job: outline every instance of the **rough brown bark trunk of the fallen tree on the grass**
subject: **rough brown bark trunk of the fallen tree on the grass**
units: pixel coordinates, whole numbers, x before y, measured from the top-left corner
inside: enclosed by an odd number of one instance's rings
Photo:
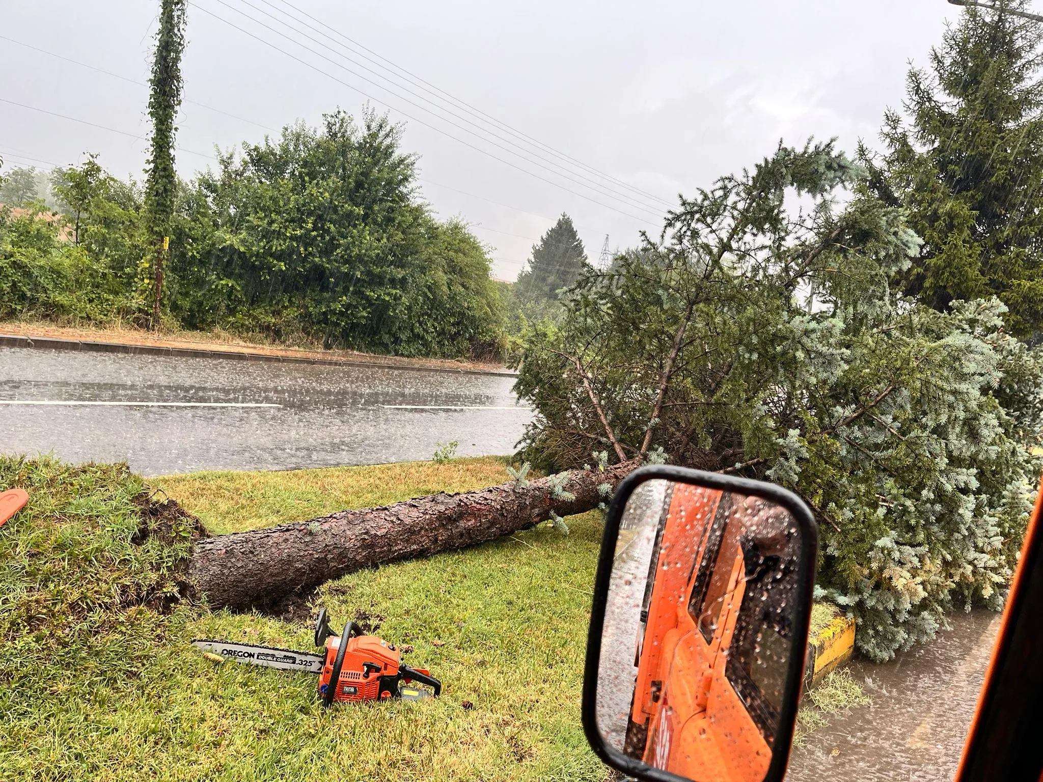
[[[405,503],[219,535],[196,543],[189,576],[212,608],[269,606],[345,573],[386,562],[461,548],[508,535],[551,517],[584,513],[607,502],[598,486],[612,489],[637,464],[572,470],[565,500],[547,478],[523,489],[513,483],[460,494],[433,494]]]

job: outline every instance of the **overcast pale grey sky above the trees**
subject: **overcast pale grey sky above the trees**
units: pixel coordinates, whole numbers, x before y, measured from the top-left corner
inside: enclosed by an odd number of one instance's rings
[[[92,151],[112,172],[140,177],[157,7],[157,0],[0,0],[7,167],[76,163]],[[213,165],[207,155],[215,144],[256,142],[271,132],[265,128],[298,118],[315,124],[337,106],[358,113],[369,100],[406,123],[425,197],[441,216],[466,219],[494,247],[494,275],[513,279],[561,212],[597,260],[606,234],[623,248],[641,228],[657,233],[663,200],[755,164],[779,139],[835,136],[848,150],[859,138],[875,144],[883,109],[901,102],[908,60],[925,65],[959,14],[945,0],[190,0],[185,97],[194,102],[184,105],[178,145],[203,154],[180,151],[177,165],[191,176]],[[344,59],[388,75],[341,48],[348,45],[341,33],[509,129],[492,138],[493,128],[459,104],[447,109],[459,118],[425,111],[435,109],[405,90],[434,96],[401,73],[404,85],[389,88]],[[589,169],[545,149],[523,151],[512,144],[525,140],[511,132]]]

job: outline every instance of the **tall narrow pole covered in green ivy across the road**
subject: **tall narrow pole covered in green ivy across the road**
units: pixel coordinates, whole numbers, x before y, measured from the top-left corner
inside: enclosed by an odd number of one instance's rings
[[[161,0],[160,30],[155,35],[155,54],[148,114],[152,138],[145,184],[146,225],[151,246],[151,284],[153,289],[150,325],[160,327],[163,297],[163,265],[168,252],[174,202],[177,196],[177,172],[174,169],[174,138],[177,109],[181,104],[181,53],[185,51],[185,0]],[[148,264],[143,265],[148,271]],[[148,280],[142,280],[147,287]]]

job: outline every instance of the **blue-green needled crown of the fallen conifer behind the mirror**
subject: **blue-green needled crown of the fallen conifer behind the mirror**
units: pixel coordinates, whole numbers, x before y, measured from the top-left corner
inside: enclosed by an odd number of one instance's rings
[[[954,606],[998,607],[1029,510],[1039,364],[995,299],[905,298],[919,252],[832,144],[780,147],[584,275],[560,323],[529,327],[524,458],[557,469],[607,449],[794,489],[820,523],[820,588],[877,660]]]

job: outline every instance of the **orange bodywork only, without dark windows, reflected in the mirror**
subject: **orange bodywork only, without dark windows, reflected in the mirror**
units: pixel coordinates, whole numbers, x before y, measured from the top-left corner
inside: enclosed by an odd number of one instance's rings
[[[742,524],[728,523],[715,562],[702,562],[714,516],[728,507],[721,507],[721,496],[701,487],[675,490],[660,561],[671,553],[666,569],[656,570],[631,718],[648,720],[644,759],[656,767],[695,780],[760,782],[771,748],[726,675],[745,593]],[[704,580],[712,572],[702,588],[709,610],[701,614],[714,619],[712,633],[688,610],[700,571]]]

